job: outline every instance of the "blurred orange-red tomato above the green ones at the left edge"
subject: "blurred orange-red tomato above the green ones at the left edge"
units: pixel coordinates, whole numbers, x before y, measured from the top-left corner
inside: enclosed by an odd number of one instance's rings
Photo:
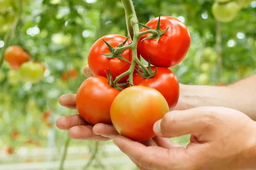
[[[12,69],[19,69],[20,65],[29,61],[30,56],[22,48],[17,45],[9,46],[5,53],[4,58],[10,64]]]

